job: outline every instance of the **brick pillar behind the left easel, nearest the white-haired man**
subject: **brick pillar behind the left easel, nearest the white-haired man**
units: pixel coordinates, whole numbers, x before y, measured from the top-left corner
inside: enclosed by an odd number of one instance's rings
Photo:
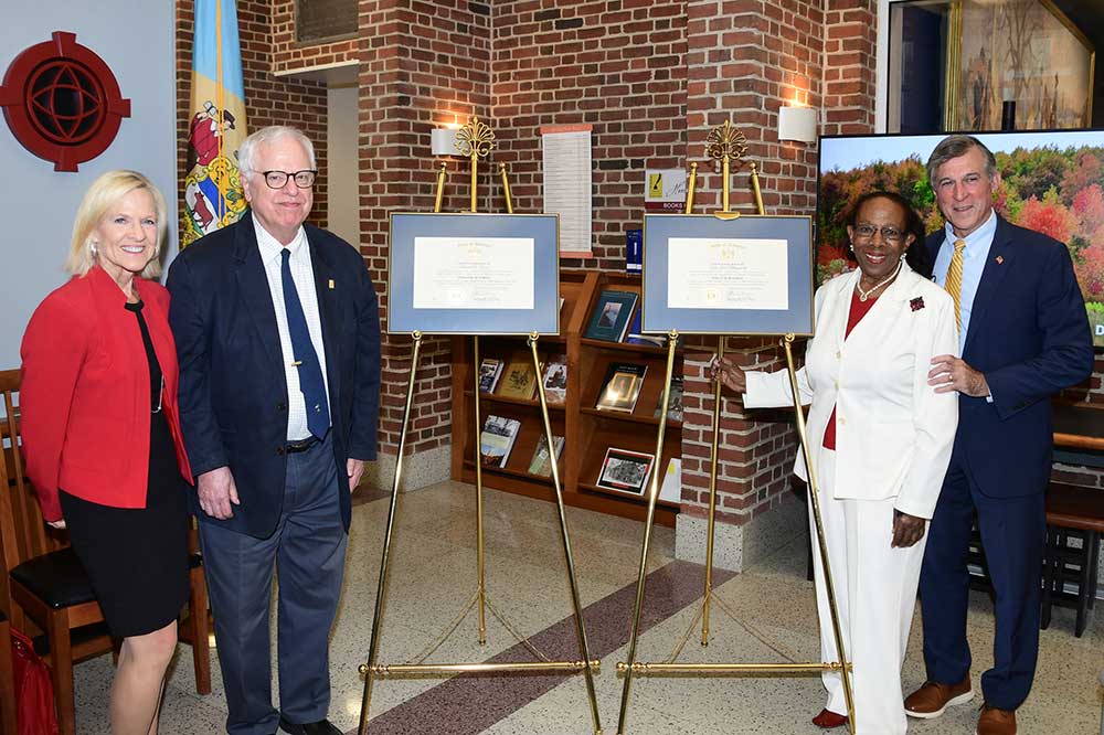
[[[436,177],[429,131],[443,122],[467,122],[471,115],[486,117],[490,104],[489,8],[445,0],[416,6],[360,1],[361,252],[380,295],[384,327],[389,214],[432,211]],[[466,210],[467,175],[457,159],[449,171],[444,210]],[[485,192],[493,180],[485,164]],[[383,487],[394,478],[412,351],[408,335],[384,335],[381,451],[378,477],[370,478]],[[450,434],[450,344],[426,338],[407,430],[405,488],[448,478]]]

